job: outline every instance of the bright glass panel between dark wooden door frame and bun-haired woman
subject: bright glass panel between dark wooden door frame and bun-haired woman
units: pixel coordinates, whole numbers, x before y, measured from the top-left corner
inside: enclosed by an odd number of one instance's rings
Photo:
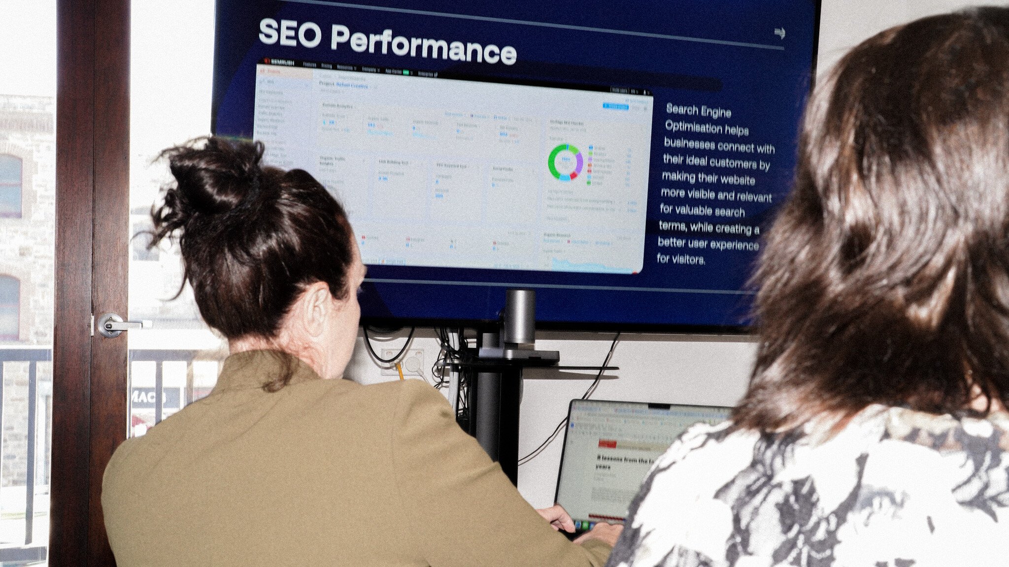
[[[227,344],[183,287],[179,247],[147,248],[151,206],[172,180],[158,154],[210,133],[214,0],[135,0],[131,20],[129,316],[153,323],[127,333],[134,437],[209,393]]]

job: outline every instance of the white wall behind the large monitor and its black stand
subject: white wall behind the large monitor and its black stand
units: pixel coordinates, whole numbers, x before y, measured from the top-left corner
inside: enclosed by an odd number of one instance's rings
[[[930,14],[947,12],[971,2],[954,0],[823,0],[817,71],[831,67],[849,48],[890,26]],[[429,372],[438,353],[434,335],[419,331],[412,348],[425,351]],[[538,346],[560,350],[561,362],[598,365],[609,348],[611,334],[540,333]],[[388,347],[399,348],[402,339]],[[733,406],[746,390],[756,344],[746,337],[624,335],[610,364],[620,366],[614,378],[600,383],[597,400],[627,400]],[[382,376],[358,342],[350,376],[364,383]],[[568,402],[580,398],[591,377],[560,379],[556,371],[527,372],[522,402],[520,455],[539,446],[567,414]],[[560,462],[561,438],[519,469],[519,490],[537,507],[553,503]]]

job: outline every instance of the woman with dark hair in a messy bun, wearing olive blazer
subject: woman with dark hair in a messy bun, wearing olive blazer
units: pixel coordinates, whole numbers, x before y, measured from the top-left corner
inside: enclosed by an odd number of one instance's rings
[[[113,454],[117,564],[602,565],[621,528],[557,534],[570,517],[526,503],[430,385],[342,379],[365,271],[353,231],[312,176],[262,153],[211,137],[162,154],[176,184],[151,245],[178,238],[231,355],[209,395]]]

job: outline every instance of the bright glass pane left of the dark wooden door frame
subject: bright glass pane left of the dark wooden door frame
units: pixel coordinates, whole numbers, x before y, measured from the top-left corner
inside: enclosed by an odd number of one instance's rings
[[[49,539],[55,0],[0,2],[0,565]]]

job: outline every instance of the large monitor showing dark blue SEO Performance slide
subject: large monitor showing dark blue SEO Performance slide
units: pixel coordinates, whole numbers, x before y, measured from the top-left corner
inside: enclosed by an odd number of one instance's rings
[[[817,0],[218,0],[214,124],[347,209],[362,315],[741,330]]]

